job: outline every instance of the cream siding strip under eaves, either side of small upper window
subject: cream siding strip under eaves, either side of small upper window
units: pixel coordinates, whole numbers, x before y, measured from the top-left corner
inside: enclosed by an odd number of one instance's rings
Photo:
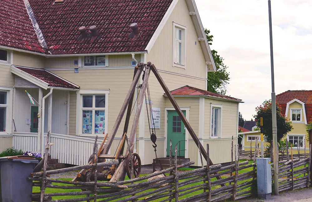
[[[131,66],[132,55],[130,54],[121,54],[121,55],[107,55],[108,57],[108,66],[109,67],[118,67],[118,66]],[[78,65],[74,65],[74,60],[78,60],[79,57],[48,57],[45,60],[45,68],[64,68],[72,67],[76,68]],[[141,60],[141,55],[136,54],[135,59],[138,63]],[[81,65],[84,64],[84,57],[81,57]]]

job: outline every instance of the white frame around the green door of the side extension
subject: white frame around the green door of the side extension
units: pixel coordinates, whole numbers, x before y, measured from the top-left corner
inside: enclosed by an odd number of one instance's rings
[[[186,120],[189,122],[190,117],[190,107],[180,107],[180,109],[183,111],[185,110],[185,117]],[[165,107],[165,146],[164,146],[164,156],[167,156],[167,125],[168,125],[168,111],[173,110],[176,111],[174,107]],[[188,130],[185,129],[185,158],[188,158]],[[175,145],[172,145],[173,147]]]

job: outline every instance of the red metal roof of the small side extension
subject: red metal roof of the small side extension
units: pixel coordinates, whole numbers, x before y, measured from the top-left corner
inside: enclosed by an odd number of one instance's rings
[[[173,95],[208,95],[208,96],[217,97],[217,98],[241,101],[241,99],[232,98],[230,96],[221,95],[221,94],[217,94],[217,93],[212,93],[212,92],[209,92],[207,90],[194,88],[194,87],[191,87],[191,86],[188,86],[188,85],[171,91],[171,94],[173,94]]]

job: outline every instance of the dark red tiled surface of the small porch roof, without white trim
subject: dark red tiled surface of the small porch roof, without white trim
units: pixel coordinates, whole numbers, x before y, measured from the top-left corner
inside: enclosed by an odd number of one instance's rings
[[[79,89],[79,87],[72,85],[65,79],[60,79],[59,77],[51,74],[48,71],[43,69],[35,69],[35,68],[24,68],[24,67],[16,67],[46,83],[51,87],[59,87],[59,88],[70,88],[70,89]]]

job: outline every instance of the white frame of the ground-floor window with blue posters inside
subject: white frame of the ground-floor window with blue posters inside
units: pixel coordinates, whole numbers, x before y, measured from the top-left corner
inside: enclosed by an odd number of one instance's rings
[[[76,134],[77,135],[81,135],[81,136],[105,136],[106,133],[108,133],[108,100],[109,100],[109,93],[110,90],[79,90],[77,91],[77,100],[76,100]],[[83,95],[93,95],[93,105],[92,108],[83,108],[82,107],[82,96]],[[95,95],[105,95],[105,108],[95,108]],[[83,118],[82,118],[82,111],[83,110],[105,110],[105,127],[104,127],[104,131],[105,134],[95,134],[94,130],[95,130],[95,122],[92,121],[92,134],[85,134],[82,133],[82,122],[83,122]],[[94,114],[92,113],[92,118],[94,119]]]

